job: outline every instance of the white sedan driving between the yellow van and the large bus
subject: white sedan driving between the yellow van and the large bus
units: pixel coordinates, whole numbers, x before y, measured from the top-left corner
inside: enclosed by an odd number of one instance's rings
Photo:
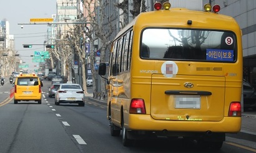
[[[79,84],[63,83],[55,93],[55,104],[78,103],[79,106],[84,106],[85,98],[84,90]]]

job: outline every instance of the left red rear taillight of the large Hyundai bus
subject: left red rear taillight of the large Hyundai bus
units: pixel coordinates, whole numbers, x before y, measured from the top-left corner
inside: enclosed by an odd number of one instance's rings
[[[145,114],[145,103],[142,99],[132,99],[130,103],[130,114]]]

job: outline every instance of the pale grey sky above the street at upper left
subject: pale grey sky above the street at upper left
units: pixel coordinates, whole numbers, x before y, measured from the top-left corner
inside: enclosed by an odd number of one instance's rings
[[[22,44],[44,44],[47,25],[24,25],[32,18],[51,18],[56,14],[56,0],[12,0],[0,2],[0,21],[8,21],[10,35],[14,35],[15,50],[22,62],[34,70],[38,63],[32,62],[31,55],[35,51],[44,51],[43,45],[33,45],[31,49],[23,48]]]

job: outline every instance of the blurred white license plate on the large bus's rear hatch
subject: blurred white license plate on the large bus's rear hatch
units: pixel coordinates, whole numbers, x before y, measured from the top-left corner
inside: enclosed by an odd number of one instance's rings
[[[201,98],[200,95],[175,95],[175,108],[192,108],[200,109]]]

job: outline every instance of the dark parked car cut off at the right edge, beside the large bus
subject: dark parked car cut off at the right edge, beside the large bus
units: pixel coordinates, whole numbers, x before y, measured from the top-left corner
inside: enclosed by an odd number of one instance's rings
[[[243,81],[244,108],[256,108],[256,93],[254,87],[246,80]]]

